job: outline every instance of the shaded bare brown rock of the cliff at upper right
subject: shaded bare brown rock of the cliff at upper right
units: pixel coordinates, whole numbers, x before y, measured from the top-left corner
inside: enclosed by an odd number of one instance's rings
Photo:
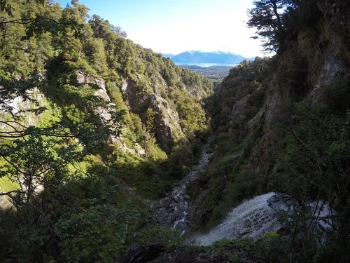
[[[318,1],[321,18],[316,25],[297,32],[297,39],[290,42],[290,48],[280,57],[277,73],[267,90],[264,107],[259,112],[264,114],[264,133],[255,151],[255,161],[250,168],[256,171],[269,170],[274,163],[272,148],[276,144],[276,134],[272,125],[280,118],[280,113],[288,109],[287,105],[297,94],[297,100],[309,103],[323,103],[325,86],[339,77],[349,76],[349,4],[342,1]],[[295,60],[300,63],[295,65]],[[294,64],[294,65],[293,65]],[[304,67],[304,74],[296,80],[300,90],[291,90],[286,79],[281,79],[279,72],[290,67]],[[298,87],[297,87],[298,88]],[[256,123],[255,116],[250,124]],[[255,120],[255,121],[254,121]]]

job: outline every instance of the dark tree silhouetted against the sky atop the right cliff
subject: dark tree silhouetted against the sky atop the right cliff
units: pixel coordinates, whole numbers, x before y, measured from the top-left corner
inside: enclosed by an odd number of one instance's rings
[[[258,29],[255,33],[258,36],[254,36],[254,39],[266,39],[263,44],[266,51],[278,51],[283,47],[286,37],[284,14],[297,8],[299,2],[298,0],[253,1],[255,8],[248,9],[250,19],[247,25]]]

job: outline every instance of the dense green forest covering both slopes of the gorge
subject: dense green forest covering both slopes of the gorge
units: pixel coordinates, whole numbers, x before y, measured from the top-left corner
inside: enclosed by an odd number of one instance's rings
[[[154,255],[127,262],[349,261],[349,4],[253,4],[248,26],[276,55],[214,89],[78,0],[0,1],[1,262],[119,262],[135,244]],[[148,222],[209,135],[192,231],[268,191],[299,205],[281,231],[204,248]],[[309,199],[336,211],[321,236]]]

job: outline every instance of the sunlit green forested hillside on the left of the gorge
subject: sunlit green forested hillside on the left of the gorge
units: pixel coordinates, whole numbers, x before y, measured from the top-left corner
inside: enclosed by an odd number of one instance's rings
[[[136,229],[197,161],[211,81],[76,0],[0,5],[0,261],[113,262],[163,238]]]

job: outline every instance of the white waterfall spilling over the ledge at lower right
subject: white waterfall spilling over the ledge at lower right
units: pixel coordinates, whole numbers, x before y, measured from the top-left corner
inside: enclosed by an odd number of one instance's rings
[[[309,222],[319,229],[326,229],[332,224],[332,215],[328,203],[323,201],[309,202],[306,205],[310,212]],[[267,193],[245,201],[234,208],[221,224],[207,234],[195,234],[187,241],[193,245],[211,245],[223,238],[259,238],[269,231],[283,227],[280,213],[291,215],[295,210],[293,200],[287,194]],[[316,215],[316,216],[315,216]]]

